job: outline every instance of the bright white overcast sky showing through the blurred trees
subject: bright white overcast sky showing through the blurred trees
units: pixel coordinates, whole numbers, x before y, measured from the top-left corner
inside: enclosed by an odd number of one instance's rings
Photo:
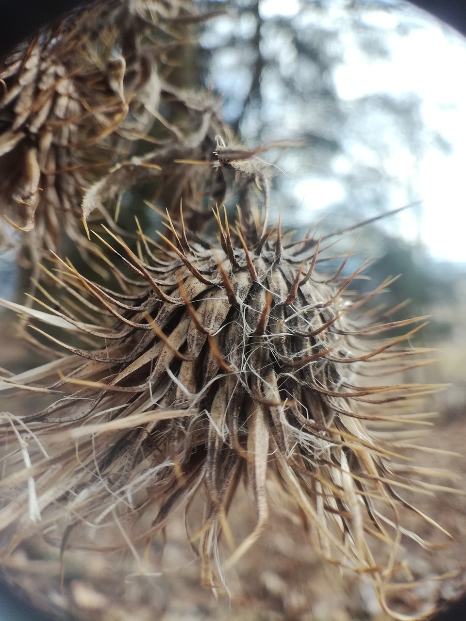
[[[264,0],[262,14],[289,16],[299,8],[298,0]],[[345,10],[345,2],[331,0],[333,19]],[[432,145],[418,165],[414,188],[423,199],[421,230],[413,214],[401,219],[401,233],[416,239],[421,235],[429,253],[440,259],[466,262],[466,39],[436,20],[426,29],[415,29],[407,36],[396,34],[397,17],[390,12],[373,11],[365,16],[389,32],[391,60],[373,60],[347,41],[345,61],[334,73],[339,97],[351,101],[375,93],[400,94],[415,91],[423,99],[426,130],[439,130],[452,145],[444,155]],[[361,154],[359,154],[361,155]],[[370,157],[370,153],[366,154]],[[337,163],[338,165],[338,163]],[[340,162],[345,166],[345,162]],[[403,153],[394,154],[386,163],[403,178],[406,162]],[[321,208],[342,196],[337,183],[309,179],[296,187],[303,197],[303,208]],[[307,197],[312,197],[308,200]],[[391,207],[400,207],[402,195],[393,189]]]

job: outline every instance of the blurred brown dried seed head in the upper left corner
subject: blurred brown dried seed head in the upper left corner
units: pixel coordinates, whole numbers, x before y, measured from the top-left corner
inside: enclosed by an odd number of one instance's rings
[[[170,52],[199,19],[190,1],[105,0],[0,63],[0,248],[24,243],[40,260],[60,235],[86,244],[83,191],[147,135]]]

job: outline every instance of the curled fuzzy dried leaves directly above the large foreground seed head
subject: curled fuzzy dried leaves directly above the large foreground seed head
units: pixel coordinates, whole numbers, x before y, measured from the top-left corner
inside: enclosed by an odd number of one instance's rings
[[[163,81],[162,101],[176,108],[176,124],[157,115],[162,125],[158,127],[160,138],[151,141],[158,143],[157,147],[122,161],[86,191],[82,204],[85,220],[141,183],[155,182],[154,200],[163,195],[169,212],[178,211],[183,201],[186,228],[196,232],[209,222],[206,212],[210,207],[224,200],[227,183],[216,154],[217,140],[222,135],[235,144],[235,138],[222,119],[221,100],[208,91],[179,89]],[[283,142],[272,146],[283,146]]]

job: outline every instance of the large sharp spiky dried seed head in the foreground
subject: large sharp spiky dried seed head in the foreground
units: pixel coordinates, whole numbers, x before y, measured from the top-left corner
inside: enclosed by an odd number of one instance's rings
[[[60,262],[68,300],[15,307],[70,338],[54,330],[48,338],[68,355],[1,383],[52,402],[2,417],[0,528],[8,550],[37,531],[64,549],[71,533],[116,523],[135,546],[203,499],[190,540],[215,586],[264,532],[278,497],[325,558],[372,579],[386,608],[401,539],[423,543],[403,528],[403,510],[419,513],[403,489],[429,490],[423,477],[434,474],[398,455],[403,433],[411,437],[400,428],[419,424],[409,407],[432,387],[386,379],[418,354],[401,344],[421,326],[369,324],[363,307],[388,283],[351,294],[360,270],[326,273],[316,238],[296,243],[279,224],[267,228],[245,196],[234,224],[216,212],[217,243],[191,235],[182,214],[160,242],[141,232],[137,254],[108,232],[117,290]],[[410,324],[404,337],[373,339]],[[228,514],[241,481],[257,522],[234,542]],[[150,525],[133,536],[142,515]]]

